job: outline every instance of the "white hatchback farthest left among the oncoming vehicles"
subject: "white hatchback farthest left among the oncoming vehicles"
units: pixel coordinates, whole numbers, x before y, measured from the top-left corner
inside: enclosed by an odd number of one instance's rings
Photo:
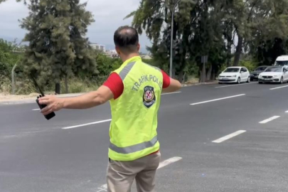
[[[225,82],[250,82],[250,72],[245,67],[230,67],[220,73],[218,78],[219,84]]]

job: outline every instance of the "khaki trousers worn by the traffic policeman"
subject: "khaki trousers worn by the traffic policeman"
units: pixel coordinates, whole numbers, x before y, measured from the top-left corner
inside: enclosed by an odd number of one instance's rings
[[[110,159],[107,168],[108,192],[130,192],[134,179],[138,192],[152,192],[160,158],[161,154],[157,152],[134,161]]]

